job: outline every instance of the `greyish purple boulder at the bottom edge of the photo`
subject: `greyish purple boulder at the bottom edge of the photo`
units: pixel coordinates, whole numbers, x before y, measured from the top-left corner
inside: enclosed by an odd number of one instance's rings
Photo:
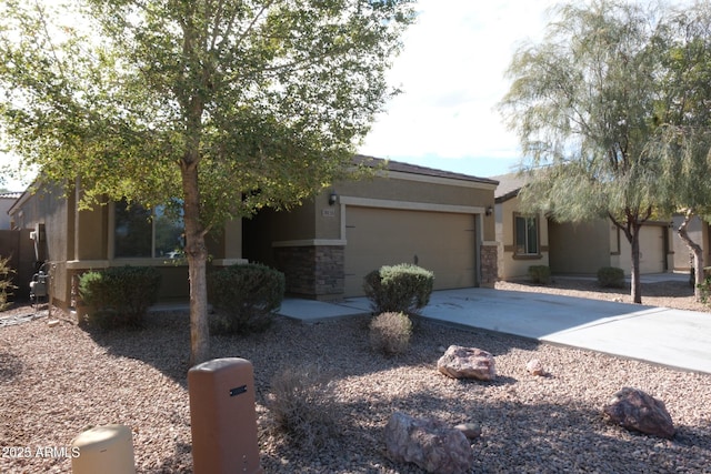
[[[461,474],[474,463],[467,436],[434,420],[395,412],[385,425],[384,438],[392,461],[414,463],[429,473]]]

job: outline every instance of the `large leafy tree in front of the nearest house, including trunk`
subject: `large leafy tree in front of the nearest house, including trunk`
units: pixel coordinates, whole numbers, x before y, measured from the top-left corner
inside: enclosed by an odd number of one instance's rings
[[[6,0],[0,14],[0,117],[22,162],[79,183],[86,205],[182,202],[192,363],[209,359],[206,234],[342,172],[413,19],[409,0]]]

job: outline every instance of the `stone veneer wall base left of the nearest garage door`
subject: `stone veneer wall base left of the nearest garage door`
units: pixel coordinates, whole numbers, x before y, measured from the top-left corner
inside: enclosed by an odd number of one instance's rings
[[[277,268],[287,279],[287,293],[329,299],[343,295],[343,245],[274,248]]]

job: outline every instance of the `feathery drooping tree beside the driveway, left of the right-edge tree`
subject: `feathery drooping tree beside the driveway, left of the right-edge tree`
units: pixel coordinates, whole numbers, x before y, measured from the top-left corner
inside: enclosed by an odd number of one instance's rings
[[[499,104],[532,172],[520,198],[558,221],[610,219],[630,242],[641,303],[640,229],[658,210],[658,163],[645,148],[659,127],[661,10],[595,0],[554,13],[544,39],[514,54]]]

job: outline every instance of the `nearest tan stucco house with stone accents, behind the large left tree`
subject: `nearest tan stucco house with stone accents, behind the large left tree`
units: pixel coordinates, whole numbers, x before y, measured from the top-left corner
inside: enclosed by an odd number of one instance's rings
[[[382,163],[382,160],[358,157]],[[362,279],[383,264],[417,263],[434,272],[435,289],[493,285],[497,181],[389,162],[361,181],[334,183],[289,212],[260,211],[209,235],[212,269],[261,262],[284,272],[287,291],[310,299],[362,294]],[[79,190],[81,192],[81,190]],[[50,262],[56,304],[76,304],[78,275],[92,269],[152,265],[161,300],[188,296],[180,225],[160,210],[147,220],[122,203],[79,210],[77,193],[24,193],[10,210],[18,228],[34,230]]]

